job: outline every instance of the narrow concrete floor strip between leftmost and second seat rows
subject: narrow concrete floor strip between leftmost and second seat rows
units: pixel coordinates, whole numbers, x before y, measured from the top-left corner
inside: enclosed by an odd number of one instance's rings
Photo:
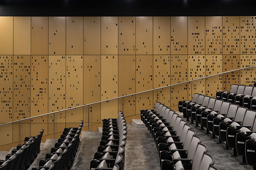
[[[44,147],[41,148],[40,153],[37,155],[36,159],[30,165],[28,170],[31,170],[32,168],[38,168],[39,160],[45,160],[45,154],[46,153],[51,153],[51,148],[53,148],[54,144],[57,143],[57,142],[58,142],[58,139],[46,139],[46,141],[44,143]]]

